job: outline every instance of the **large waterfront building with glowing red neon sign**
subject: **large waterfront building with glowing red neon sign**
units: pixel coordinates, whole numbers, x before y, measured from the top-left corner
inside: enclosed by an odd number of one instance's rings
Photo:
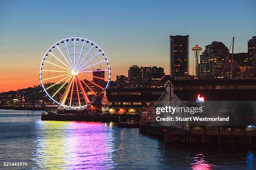
[[[220,128],[216,125],[211,126],[208,123],[206,127],[205,125],[197,125],[195,122],[189,121],[162,121],[158,122],[157,125],[184,130],[203,130],[206,128],[210,130],[213,128],[217,129],[216,135],[219,134],[218,130],[221,129],[244,130],[248,128],[248,125],[255,125],[256,80],[169,80],[165,88],[165,92],[158,100],[158,107],[202,107],[202,105],[205,105],[205,109],[207,109],[205,115],[229,115],[234,119],[232,122],[234,126],[232,127],[228,124],[226,125],[227,127]],[[218,109],[216,110],[216,108]],[[246,114],[245,117],[251,118],[240,121],[243,114]],[[167,117],[172,115],[165,112],[161,116]],[[176,116],[191,117],[198,115],[179,112],[175,113]]]

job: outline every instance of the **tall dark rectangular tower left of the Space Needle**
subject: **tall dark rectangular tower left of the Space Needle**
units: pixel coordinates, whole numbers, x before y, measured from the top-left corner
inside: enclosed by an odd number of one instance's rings
[[[189,74],[189,35],[170,36],[170,75]]]

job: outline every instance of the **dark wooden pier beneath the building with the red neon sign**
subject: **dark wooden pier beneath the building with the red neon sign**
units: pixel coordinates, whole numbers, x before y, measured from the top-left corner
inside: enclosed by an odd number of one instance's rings
[[[166,144],[178,145],[240,145],[253,146],[256,143],[256,131],[247,130],[181,130],[166,126],[142,124],[140,133],[164,140]]]

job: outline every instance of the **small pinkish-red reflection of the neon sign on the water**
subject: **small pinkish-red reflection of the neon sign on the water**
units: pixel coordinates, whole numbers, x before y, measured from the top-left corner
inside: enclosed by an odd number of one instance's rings
[[[211,170],[212,167],[215,167],[216,165],[211,165],[205,160],[205,155],[202,153],[200,154],[195,154],[194,157],[191,158],[191,164],[192,170]]]

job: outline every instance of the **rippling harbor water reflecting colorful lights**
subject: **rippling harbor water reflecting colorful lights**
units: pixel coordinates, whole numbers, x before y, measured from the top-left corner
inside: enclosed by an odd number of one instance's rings
[[[115,123],[41,121],[41,112],[28,112],[0,110],[0,169],[256,169],[253,150],[167,147]]]

